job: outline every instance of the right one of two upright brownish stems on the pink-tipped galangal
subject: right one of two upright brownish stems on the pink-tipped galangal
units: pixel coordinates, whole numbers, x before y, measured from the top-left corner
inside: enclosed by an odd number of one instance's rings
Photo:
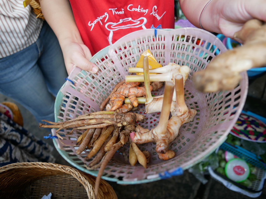
[[[176,114],[179,113],[180,115],[183,115],[188,111],[184,98],[183,76],[176,75],[174,79],[176,88]]]

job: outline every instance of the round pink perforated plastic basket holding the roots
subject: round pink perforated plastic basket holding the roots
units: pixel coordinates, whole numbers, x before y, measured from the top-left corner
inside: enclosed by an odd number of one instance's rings
[[[184,124],[178,137],[169,144],[169,148],[176,152],[173,159],[161,161],[155,151],[155,143],[140,145],[141,150],[148,150],[151,160],[148,168],[140,165],[131,166],[125,160],[129,146],[125,145],[114,155],[113,160],[105,169],[102,176],[105,180],[117,181],[120,184],[137,184],[159,180],[159,174],[172,172],[178,167],[183,170],[200,162],[212,153],[223,141],[235,124],[246,100],[247,74],[242,73],[242,81],[230,91],[217,93],[200,93],[192,83],[192,74],[204,70],[215,57],[214,52],[226,51],[226,47],[213,34],[197,28],[181,28],[171,30],[146,29],[133,32],[122,37],[113,45],[99,51],[91,59],[98,65],[99,72],[91,74],[75,68],[69,75],[70,81],[62,86],[56,97],[56,121],[65,121],[88,112],[99,111],[99,105],[108,96],[114,85],[128,75],[128,67],[135,67],[143,51],[149,49],[163,66],[169,62],[187,65],[191,68],[185,83],[185,102],[189,108],[197,110],[192,122]],[[153,92],[155,95],[163,93],[163,88]],[[144,114],[145,107],[139,105],[138,113]],[[160,113],[146,114],[147,121],[140,125],[153,128],[157,125]],[[76,140],[82,131],[74,131],[66,135],[71,129],[60,131],[64,140],[54,139],[59,153],[78,169],[97,175],[98,171],[90,171],[84,157],[85,151],[76,155]],[[55,135],[55,129],[52,129]]]

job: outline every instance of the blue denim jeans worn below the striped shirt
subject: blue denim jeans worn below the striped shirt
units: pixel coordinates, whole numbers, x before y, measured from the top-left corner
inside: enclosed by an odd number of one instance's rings
[[[0,92],[23,105],[38,122],[55,120],[55,96],[66,77],[59,42],[46,21],[34,44],[0,59]]]

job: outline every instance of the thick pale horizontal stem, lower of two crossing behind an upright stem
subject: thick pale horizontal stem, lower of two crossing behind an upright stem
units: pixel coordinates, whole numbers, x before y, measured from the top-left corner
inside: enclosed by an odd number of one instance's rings
[[[163,74],[152,74],[149,76],[150,81],[172,81],[171,72]],[[126,82],[144,82],[144,75],[126,75]]]

